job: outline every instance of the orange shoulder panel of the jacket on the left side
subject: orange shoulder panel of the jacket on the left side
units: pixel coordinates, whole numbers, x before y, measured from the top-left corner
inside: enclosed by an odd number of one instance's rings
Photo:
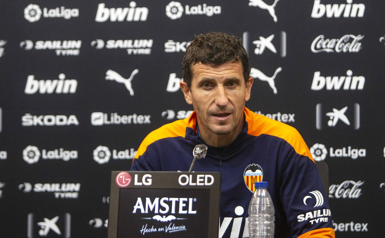
[[[144,154],[144,152],[146,152],[147,150],[147,147],[152,143],[156,142],[157,140],[160,140],[163,138],[169,138],[169,137],[185,137],[187,127],[191,127],[194,130],[196,130],[195,118],[196,118],[196,114],[195,114],[195,111],[193,111],[191,115],[185,119],[168,123],[150,132],[146,136],[146,138],[144,138],[141,145],[139,146],[139,149],[136,152],[134,160],[137,159],[142,154]]]

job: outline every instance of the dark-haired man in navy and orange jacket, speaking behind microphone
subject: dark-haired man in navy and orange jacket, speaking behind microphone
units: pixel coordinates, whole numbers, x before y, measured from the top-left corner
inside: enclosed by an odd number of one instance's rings
[[[219,237],[248,237],[253,182],[263,180],[275,206],[275,237],[334,238],[327,198],[300,134],[245,108],[253,77],[241,40],[200,34],[182,68],[180,86],[194,112],[147,135],[131,170],[187,171],[192,150],[204,143],[206,158],[194,170],[222,173]]]

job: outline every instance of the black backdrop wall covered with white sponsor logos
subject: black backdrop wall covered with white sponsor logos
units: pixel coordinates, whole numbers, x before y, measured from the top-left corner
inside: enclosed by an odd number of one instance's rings
[[[3,1],[0,236],[106,237],[110,171],[128,170],[147,133],[191,113],[178,84],[182,57],[209,31],[243,39],[255,78],[246,106],[296,127],[329,165],[336,235],[382,236],[384,8]]]

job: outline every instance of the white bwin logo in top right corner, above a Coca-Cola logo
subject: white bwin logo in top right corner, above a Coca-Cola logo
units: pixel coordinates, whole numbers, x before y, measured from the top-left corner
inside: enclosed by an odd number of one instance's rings
[[[313,10],[311,11],[312,18],[321,18],[325,15],[327,18],[341,17],[363,17],[365,5],[362,3],[353,3],[353,0],[346,0],[348,4],[321,4],[321,0],[314,0]]]

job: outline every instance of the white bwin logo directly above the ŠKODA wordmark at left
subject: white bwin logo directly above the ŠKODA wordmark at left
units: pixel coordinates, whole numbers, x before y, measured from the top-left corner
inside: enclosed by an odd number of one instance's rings
[[[65,74],[59,74],[59,79],[35,80],[34,75],[28,75],[24,93],[75,93],[77,89],[76,79],[65,79]]]

